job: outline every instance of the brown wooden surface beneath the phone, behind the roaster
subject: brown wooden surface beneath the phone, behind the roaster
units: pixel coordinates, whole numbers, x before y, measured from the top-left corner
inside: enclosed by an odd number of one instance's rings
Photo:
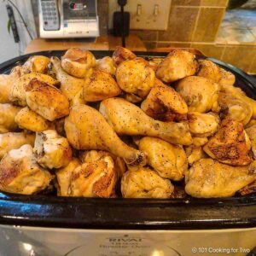
[[[27,45],[24,54],[29,54],[44,50],[54,49],[69,49],[72,47],[79,47],[85,49],[97,49],[97,50],[113,50],[117,45],[121,45],[121,38],[113,37],[111,35],[101,36],[96,40],[89,41],[86,38],[74,38],[74,39],[44,39],[36,38]],[[129,35],[126,38],[126,47],[134,51],[146,51],[146,47],[143,41],[136,35]]]

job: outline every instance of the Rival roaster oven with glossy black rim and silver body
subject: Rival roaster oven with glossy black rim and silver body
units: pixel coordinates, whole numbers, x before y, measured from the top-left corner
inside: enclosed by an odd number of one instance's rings
[[[63,55],[63,51],[38,55]],[[96,58],[111,51],[93,51]],[[136,53],[150,59],[165,53]],[[30,55],[0,65],[0,73]],[[256,81],[236,86],[256,99]],[[250,255],[256,247],[256,195],[153,200],[67,198],[0,193],[0,255],[172,256]]]

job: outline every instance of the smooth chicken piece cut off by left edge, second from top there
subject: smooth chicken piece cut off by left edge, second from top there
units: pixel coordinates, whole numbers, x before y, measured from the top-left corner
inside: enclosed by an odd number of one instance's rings
[[[17,130],[18,125],[15,123],[15,115],[20,109],[20,107],[15,107],[9,103],[0,103],[0,133]]]

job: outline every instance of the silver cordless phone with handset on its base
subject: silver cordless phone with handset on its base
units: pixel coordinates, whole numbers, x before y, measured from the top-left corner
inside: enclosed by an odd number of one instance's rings
[[[96,38],[96,0],[39,0],[40,38]]]

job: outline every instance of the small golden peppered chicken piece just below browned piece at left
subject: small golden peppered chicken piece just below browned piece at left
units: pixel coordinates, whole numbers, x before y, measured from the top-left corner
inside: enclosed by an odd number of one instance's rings
[[[54,125],[47,119],[44,119],[44,117],[27,107],[22,108],[19,113],[15,115],[15,123],[19,125],[20,128],[30,131],[45,131],[54,128]]]

